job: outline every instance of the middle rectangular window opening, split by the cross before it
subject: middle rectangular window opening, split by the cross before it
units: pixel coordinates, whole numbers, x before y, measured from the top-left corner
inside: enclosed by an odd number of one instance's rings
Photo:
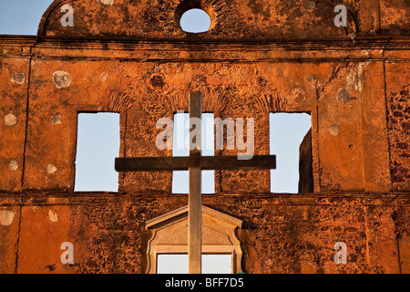
[[[174,115],[172,156],[190,156],[190,114],[177,112]],[[202,113],[202,156],[214,155],[214,118],[213,113]],[[201,172],[202,193],[215,193],[215,171]],[[172,193],[189,193],[189,172],[174,171]]]

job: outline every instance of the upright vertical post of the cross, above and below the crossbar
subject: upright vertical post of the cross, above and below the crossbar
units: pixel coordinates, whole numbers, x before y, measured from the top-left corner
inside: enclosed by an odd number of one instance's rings
[[[200,156],[201,129],[193,131],[195,120],[201,118],[202,98],[198,91],[190,92],[190,156]],[[196,127],[200,126],[198,124]],[[194,147],[195,146],[195,147]],[[201,273],[202,255],[202,195],[200,166],[189,167],[190,191],[188,211],[188,272]]]

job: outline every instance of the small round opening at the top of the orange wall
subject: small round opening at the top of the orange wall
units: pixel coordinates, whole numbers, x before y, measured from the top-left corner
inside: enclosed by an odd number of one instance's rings
[[[201,9],[193,8],[180,17],[179,24],[186,33],[204,33],[210,30],[210,16]]]

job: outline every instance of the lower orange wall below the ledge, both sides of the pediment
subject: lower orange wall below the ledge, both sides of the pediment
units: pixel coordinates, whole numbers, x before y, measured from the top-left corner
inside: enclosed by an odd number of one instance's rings
[[[187,203],[184,195],[108,193],[1,200],[8,204],[2,210],[15,213],[0,229],[3,273],[145,273],[151,236],[145,223]],[[203,203],[243,220],[238,237],[247,273],[410,272],[404,193],[204,195]],[[67,241],[74,265],[60,261]],[[347,245],[345,265],[333,261],[337,242]]]

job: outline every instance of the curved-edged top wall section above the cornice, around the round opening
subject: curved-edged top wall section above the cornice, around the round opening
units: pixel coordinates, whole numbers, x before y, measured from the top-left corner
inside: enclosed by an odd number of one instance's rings
[[[73,8],[73,26],[62,26],[65,5]],[[38,36],[241,40],[355,36],[355,18],[359,16],[355,11],[365,12],[366,7],[348,6],[347,26],[336,27],[334,6],[328,0],[55,0],[42,17]],[[180,17],[191,8],[207,12],[209,31],[190,34],[180,28]]]

